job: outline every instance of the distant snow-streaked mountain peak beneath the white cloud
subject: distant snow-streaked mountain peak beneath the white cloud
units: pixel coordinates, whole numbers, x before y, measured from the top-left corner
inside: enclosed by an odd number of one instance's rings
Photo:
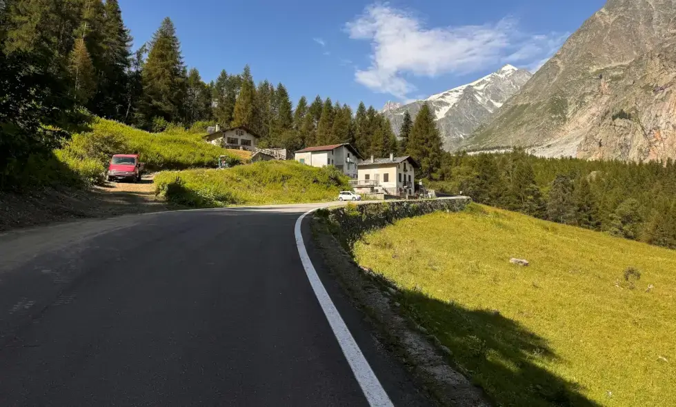
[[[390,119],[392,129],[398,135],[404,112],[408,110],[412,119],[415,119],[423,103],[428,103],[437,116],[444,148],[455,150],[465,137],[486,123],[532,76],[527,70],[506,65],[478,81],[432,95],[425,100],[397,108],[393,108],[397,103],[388,101],[382,112]]]

